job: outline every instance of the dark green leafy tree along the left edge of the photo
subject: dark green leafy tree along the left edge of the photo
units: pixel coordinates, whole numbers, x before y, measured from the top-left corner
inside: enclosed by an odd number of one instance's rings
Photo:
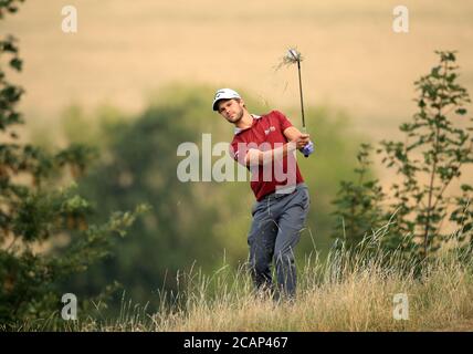
[[[0,1],[0,18],[15,12],[20,2]],[[0,40],[0,323],[18,325],[56,314],[62,296],[57,283],[104,258],[111,236],[124,236],[145,207],[113,214],[103,225],[90,223],[91,202],[75,183],[65,186],[62,180],[66,166],[73,177],[85,173],[94,150],[72,145],[50,154],[22,143],[14,127],[24,123],[17,111],[24,91],[7,80],[7,71],[20,72],[23,62],[11,35]]]

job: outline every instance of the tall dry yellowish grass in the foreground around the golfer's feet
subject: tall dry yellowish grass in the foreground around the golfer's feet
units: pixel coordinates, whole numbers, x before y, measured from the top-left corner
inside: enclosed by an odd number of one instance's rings
[[[177,294],[159,292],[160,308],[155,313],[124,299],[117,319],[90,316],[67,322],[65,330],[472,331],[471,249],[451,249],[419,263],[380,248],[387,230],[365,238],[357,250],[341,247],[325,260],[316,253],[307,258],[293,302],[255,293],[244,266],[236,270],[223,266],[211,277],[191,269],[178,277]],[[393,317],[397,293],[408,295],[408,320]]]

